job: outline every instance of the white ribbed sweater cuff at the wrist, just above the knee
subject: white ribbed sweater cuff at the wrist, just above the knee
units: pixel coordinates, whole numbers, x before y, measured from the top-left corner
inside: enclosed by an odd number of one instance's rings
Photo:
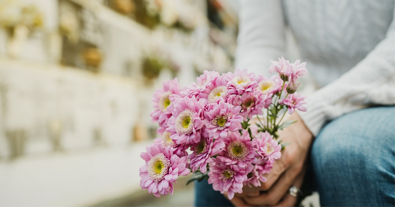
[[[328,117],[325,115],[325,104],[317,103],[313,100],[306,100],[307,111],[298,111],[299,116],[310,130],[310,132],[316,137],[321,131],[321,128],[327,121]]]

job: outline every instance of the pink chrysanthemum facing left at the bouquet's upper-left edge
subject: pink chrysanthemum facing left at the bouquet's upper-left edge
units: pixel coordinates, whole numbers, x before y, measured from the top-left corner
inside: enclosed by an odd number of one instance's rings
[[[171,116],[171,96],[178,95],[180,85],[177,78],[163,82],[163,89],[158,89],[154,93],[152,103],[155,110],[151,112],[152,122],[158,122],[158,133],[162,134],[166,129],[167,121]]]

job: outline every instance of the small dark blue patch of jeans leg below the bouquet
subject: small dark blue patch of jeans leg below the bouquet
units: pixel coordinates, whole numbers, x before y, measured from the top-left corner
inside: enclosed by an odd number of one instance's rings
[[[234,207],[228,199],[219,191],[213,190],[213,186],[207,180],[195,181],[195,207]]]

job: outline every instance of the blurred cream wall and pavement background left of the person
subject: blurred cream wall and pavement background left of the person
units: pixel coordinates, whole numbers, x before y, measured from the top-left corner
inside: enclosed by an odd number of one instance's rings
[[[162,82],[233,70],[237,0],[0,0],[0,207],[192,207],[141,190]],[[155,198],[155,199],[153,199]]]

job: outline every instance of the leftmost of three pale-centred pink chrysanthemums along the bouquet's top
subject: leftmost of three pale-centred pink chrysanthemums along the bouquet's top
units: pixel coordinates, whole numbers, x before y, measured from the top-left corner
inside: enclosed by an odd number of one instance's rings
[[[226,100],[228,98],[228,88],[226,87],[228,81],[221,75],[216,77],[211,83],[199,93],[197,100],[205,104],[218,103],[221,100]]]

